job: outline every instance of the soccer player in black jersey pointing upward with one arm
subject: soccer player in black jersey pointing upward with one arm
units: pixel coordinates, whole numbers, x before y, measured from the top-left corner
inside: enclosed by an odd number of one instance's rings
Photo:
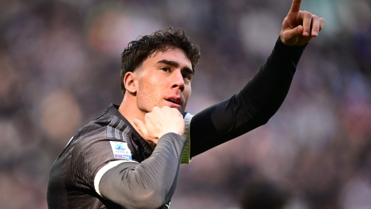
[[[300,5],[292,2],[273,53],[247,85],[195,116],[184,109],[199,48],[182,29],[131,41],[122,104],[67,143],[51,168],[48,208],[169,208],[181,161],[263,125],[282,104],[306,43],[325,23]]]

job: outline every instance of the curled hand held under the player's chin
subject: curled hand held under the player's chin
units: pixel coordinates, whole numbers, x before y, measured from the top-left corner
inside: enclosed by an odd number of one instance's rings
[[[144,116],[144,122],[134,119],[134,124],[142,133],[145,140],[157,144],[157,141],[166,133],[183,135],[184,119],[178,109],[170,107],[153,107],[152,112]]]

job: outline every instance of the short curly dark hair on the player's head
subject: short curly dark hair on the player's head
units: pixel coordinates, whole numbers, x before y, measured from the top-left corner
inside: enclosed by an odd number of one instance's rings
[[[125,95],[126,91],[124,86],[126,72],[134,72],[150,54],[165,51],[169,47],[183,50],[192,64],[193,72],[195,71],[200,59],[200,46],[194,45],[183,29],[168,27],[149,36],[138,36],[136,41],[131,41],[122,53],[120,82],[123,95]]]

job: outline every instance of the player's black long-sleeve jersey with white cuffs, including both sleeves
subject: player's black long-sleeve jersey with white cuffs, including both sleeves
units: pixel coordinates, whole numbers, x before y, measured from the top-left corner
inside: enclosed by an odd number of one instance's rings
[[[266,123],[285,99],[304,48],[278,39],[239,93],[185,114],[185,135],[167,133],[154,150],[111,104],[53,163],[48,208],[169,208],[181,161]]]

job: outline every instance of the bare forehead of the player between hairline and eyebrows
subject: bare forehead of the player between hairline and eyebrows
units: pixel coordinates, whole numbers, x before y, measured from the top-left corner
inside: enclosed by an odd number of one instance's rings
[[[192,63],[187,58],[186,53],[180,48],[168,48],[165,51],[157,51],[148,56],[143,65],[156,65],[160,60],[177,62],[179,67],[192,69]]]

